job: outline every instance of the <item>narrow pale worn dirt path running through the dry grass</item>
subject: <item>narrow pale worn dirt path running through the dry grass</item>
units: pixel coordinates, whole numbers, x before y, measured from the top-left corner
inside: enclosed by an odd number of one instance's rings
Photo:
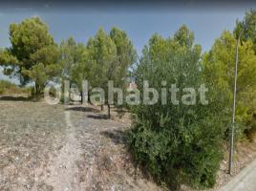
[[[65,144],[60,149],[58,156],[52,159],[52,163],[48,168],[50,175],[45,180],[56,191],[80,190],[77,177],[78,168],[75,162],[80,159],[81,149],[79,142],[75,138],[76,129],[70,122],[69,111],[65,111],[65,117],[67,121],[67,138],[65,138]]]

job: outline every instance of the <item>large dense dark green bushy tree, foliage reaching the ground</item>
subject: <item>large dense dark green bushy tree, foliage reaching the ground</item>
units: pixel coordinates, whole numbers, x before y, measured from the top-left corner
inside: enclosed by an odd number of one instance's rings
[[[186,26],[181,26],[174,37],[154,34],[135,71],[139,91],[143,92],[143,80],[159,94],[172,84],[180,90],[198,90],[205,83],[200,57],[201,46],[194,44],[193,32]],[[131,152],[146,172],[171,189],[178,189],[181,183],[194,187],[215,183],[222,159],[224,115],[214,90],[207,88],[208,105],[177,104],[167,92],[155,104],[143,102],[132,109],[136,120],[129,136]],[[195,94],[199,100],[199,93]],[[177,93],[177,100],[182,96]]]

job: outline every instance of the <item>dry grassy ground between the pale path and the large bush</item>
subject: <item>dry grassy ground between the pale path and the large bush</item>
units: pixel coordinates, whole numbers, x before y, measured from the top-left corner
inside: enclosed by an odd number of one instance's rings
[[[133,165],[125,145],[130,128],[129,114],[122,117],[112,108],[112,119],[100,107],[75,107],[71,118],[81,142],[82,157],[77,160],[81,190],[160,190],[152,180],[143,179]]]

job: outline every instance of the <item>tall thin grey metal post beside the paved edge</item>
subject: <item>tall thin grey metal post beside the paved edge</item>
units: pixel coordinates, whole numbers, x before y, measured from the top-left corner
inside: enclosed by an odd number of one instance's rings
[[[238,68],[238,46],[243,30],[239,33],[237,44],[236,44],[236,62],[235,62],[235,79],[234,79],[234,93],[233,93],[233,111],[232,111],[232,126],[230,135],[229,145],[229,163],[228,163],[228,174],[232,175],[232,161],[234,152],[234,133],[235,133],[235,115],[236,115],[236,93],[237,93],[237,68]]]

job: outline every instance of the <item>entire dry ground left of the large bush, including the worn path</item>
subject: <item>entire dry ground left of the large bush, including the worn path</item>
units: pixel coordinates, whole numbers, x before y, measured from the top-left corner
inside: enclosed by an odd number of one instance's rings
[[[96,107],[4,99],[0,190],[160,190],[142,178],[127,153],[129,117],[120,119],[113,110],[107,119]]]

